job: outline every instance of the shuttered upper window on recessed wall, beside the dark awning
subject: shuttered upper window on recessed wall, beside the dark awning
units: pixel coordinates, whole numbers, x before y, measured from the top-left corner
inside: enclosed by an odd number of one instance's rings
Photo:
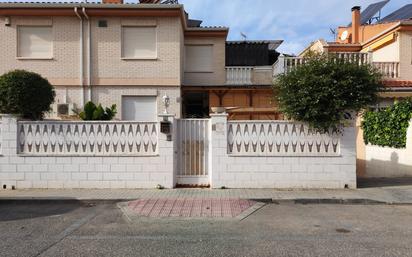
[[[213,72],[213,45],[186,45],[186,72]]]

